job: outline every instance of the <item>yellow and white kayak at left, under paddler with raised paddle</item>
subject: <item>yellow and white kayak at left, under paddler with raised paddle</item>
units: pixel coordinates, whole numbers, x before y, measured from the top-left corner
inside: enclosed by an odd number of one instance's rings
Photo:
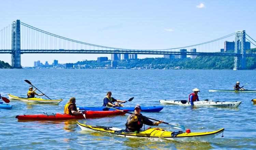
[[[17,97],[13,96],[11,94],[8,94],[10,100],[20,100],[24,102],[30,102],[30,103],[41,103],[41,104],[58,104],[61,102],[63,99],[58,99],[58,100],[45,100],[42,98],[22,98],[22,97]]]

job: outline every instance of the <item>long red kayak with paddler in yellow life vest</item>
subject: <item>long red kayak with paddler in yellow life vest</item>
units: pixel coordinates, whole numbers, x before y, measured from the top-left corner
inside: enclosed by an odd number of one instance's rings
[[[128,110],[126,110],[128,111]],[[40,114],[40,115],[17,115],[15,118],[18,120],[68,120],[68,119],[85,119],[86,118],[99,118],[113,115],[124,115],[125,112],[120,111],[84,111],[79,115],[67,115],[67,114]]]

